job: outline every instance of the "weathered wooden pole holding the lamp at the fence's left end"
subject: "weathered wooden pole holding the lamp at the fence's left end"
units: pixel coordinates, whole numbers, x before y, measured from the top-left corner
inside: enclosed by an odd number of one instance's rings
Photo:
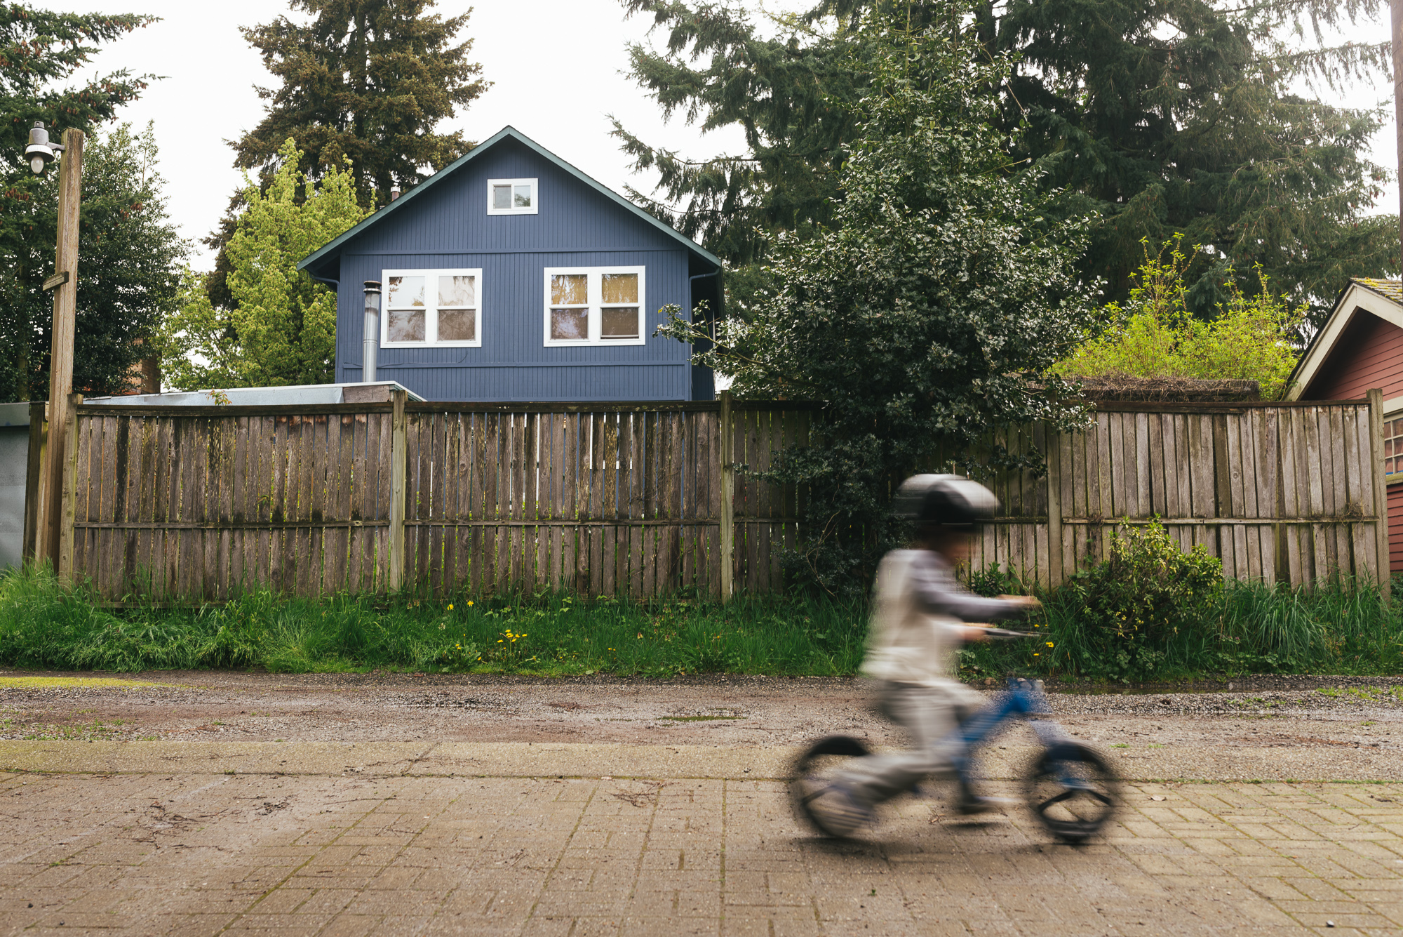
[[[77,331],[79,299],[79,206],[83,199],[83,130],[63,132],[63,159],[59,160],[59,244],[53,276],[43,281],[53,290],[53,328],[49,346],[49,433],[45,464],[41,466],[42,502],[39,505],[35,561],[48,560],[59,569],[59,530],[63,520],[63,466],[69,453],[67,425],[73,393],[73,337]]]

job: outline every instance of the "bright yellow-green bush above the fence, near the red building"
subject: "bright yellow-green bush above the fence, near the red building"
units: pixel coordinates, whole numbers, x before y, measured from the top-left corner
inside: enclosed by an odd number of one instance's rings
[[[1157,257],[1150,257],[1146,247],[1129,299],[1107,306],[1111,328],[1054,370],[1069,379],[1127,375],[1256,380],[1268,400],[1280,397],[1296,363],[1294,339],[1305,309],[1292,310],[1260,269],[1251,295],[1229,271],[1223,283],[1228,300],[1205,321],[1190,306],[1193,259],[1184,254],[1183,236],[1167,241]]]

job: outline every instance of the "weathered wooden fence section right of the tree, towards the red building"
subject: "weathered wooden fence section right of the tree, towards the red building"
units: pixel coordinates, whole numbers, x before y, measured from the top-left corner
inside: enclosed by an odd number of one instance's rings
[[[1086,432],[1009,433],[1048,453],[1048,474],[995,480],[1005,515],[974,564],[1048,585],[1103,557],[1107,534],[1157,518],[1202,544],[1223,577],[1388,586],[1382,398],[1289,404],[1104,404]]]

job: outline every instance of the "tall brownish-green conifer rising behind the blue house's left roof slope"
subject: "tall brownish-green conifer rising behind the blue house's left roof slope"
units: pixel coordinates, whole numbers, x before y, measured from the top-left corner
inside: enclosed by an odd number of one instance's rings
[[[236,166],[267,177],[292,137],[310,178],[351,161],[362,206],[384,205],[408,189],[424,167],[438,171],[471,149],[460,130],[439,122],[471,104],[488,84],[457,42],[469,13],[429,14],[434,0],[292,0],[311,15],[244,28],[281,87],[258,88],[268,114],[234,143]]]

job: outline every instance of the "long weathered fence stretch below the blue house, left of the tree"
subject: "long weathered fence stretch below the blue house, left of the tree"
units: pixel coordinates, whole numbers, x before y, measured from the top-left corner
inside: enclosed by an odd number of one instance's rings
[[[59,565],[108,600],[763,592],[794,543],[796,495],[730,466],[804,442],[811,410],[80,404]]]

